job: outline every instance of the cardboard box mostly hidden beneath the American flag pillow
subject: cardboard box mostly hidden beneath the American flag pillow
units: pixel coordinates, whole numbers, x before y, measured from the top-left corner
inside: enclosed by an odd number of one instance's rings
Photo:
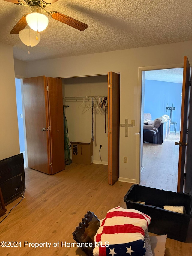
[[[164,256],[165,255],[165,243],[167,235],[162,236],[150,236],[151,247],[153,256]],[[67,256],[86,256],[81,248],[71,247],[67,253]]]

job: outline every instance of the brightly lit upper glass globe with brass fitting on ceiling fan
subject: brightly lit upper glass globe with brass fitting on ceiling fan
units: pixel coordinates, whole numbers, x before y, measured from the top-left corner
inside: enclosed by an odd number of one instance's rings
[[[26,16],[29,27],[35,31],[43,31],[48,25],[48,17],[41,13],[41,8],[33,6],[32,13]]]

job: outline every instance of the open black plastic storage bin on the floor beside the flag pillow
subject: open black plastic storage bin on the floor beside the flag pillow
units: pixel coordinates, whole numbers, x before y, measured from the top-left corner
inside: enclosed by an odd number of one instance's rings
[[[136,209],[152,218],[149,232],[185,242],[192,217],[192,196],[141,185],[132,185],[124,197],[127,209]],[[137,201],[144,204],[135,203]],[[186,214],[164,210],[164,205],[184,206]]]

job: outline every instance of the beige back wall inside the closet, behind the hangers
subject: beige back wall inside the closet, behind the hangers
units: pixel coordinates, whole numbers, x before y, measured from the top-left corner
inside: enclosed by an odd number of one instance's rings
[[[107,96],[108,83],[107,75],[74,77],[63,79],[63,96]],[[100,98],[101,101],[102,98]],[[99,101],[99,98],[97,99]],[[92,137],[92,102],[85,98],[83,100],[64,99],[65,116],[67,119],[69,141],[90,142]],[[85,106],[86,104],[86,106]],[[81,106],[80,106],[81,105]],[[80,107],[79,107],[80,106]],[[107,109],[106,109],[107,110]],[[97,107],[94,99],[93,108],[93,163],[108,164],[108,114],[106,111],[106,133],[105,133],[105,109]],[[101,147],[101,159],[99,149]]]

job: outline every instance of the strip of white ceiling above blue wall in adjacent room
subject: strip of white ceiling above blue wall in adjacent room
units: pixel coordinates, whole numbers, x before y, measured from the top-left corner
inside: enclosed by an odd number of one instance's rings
[[[172,83],[183,83],[183,68],[145,71],[145,79]]]

